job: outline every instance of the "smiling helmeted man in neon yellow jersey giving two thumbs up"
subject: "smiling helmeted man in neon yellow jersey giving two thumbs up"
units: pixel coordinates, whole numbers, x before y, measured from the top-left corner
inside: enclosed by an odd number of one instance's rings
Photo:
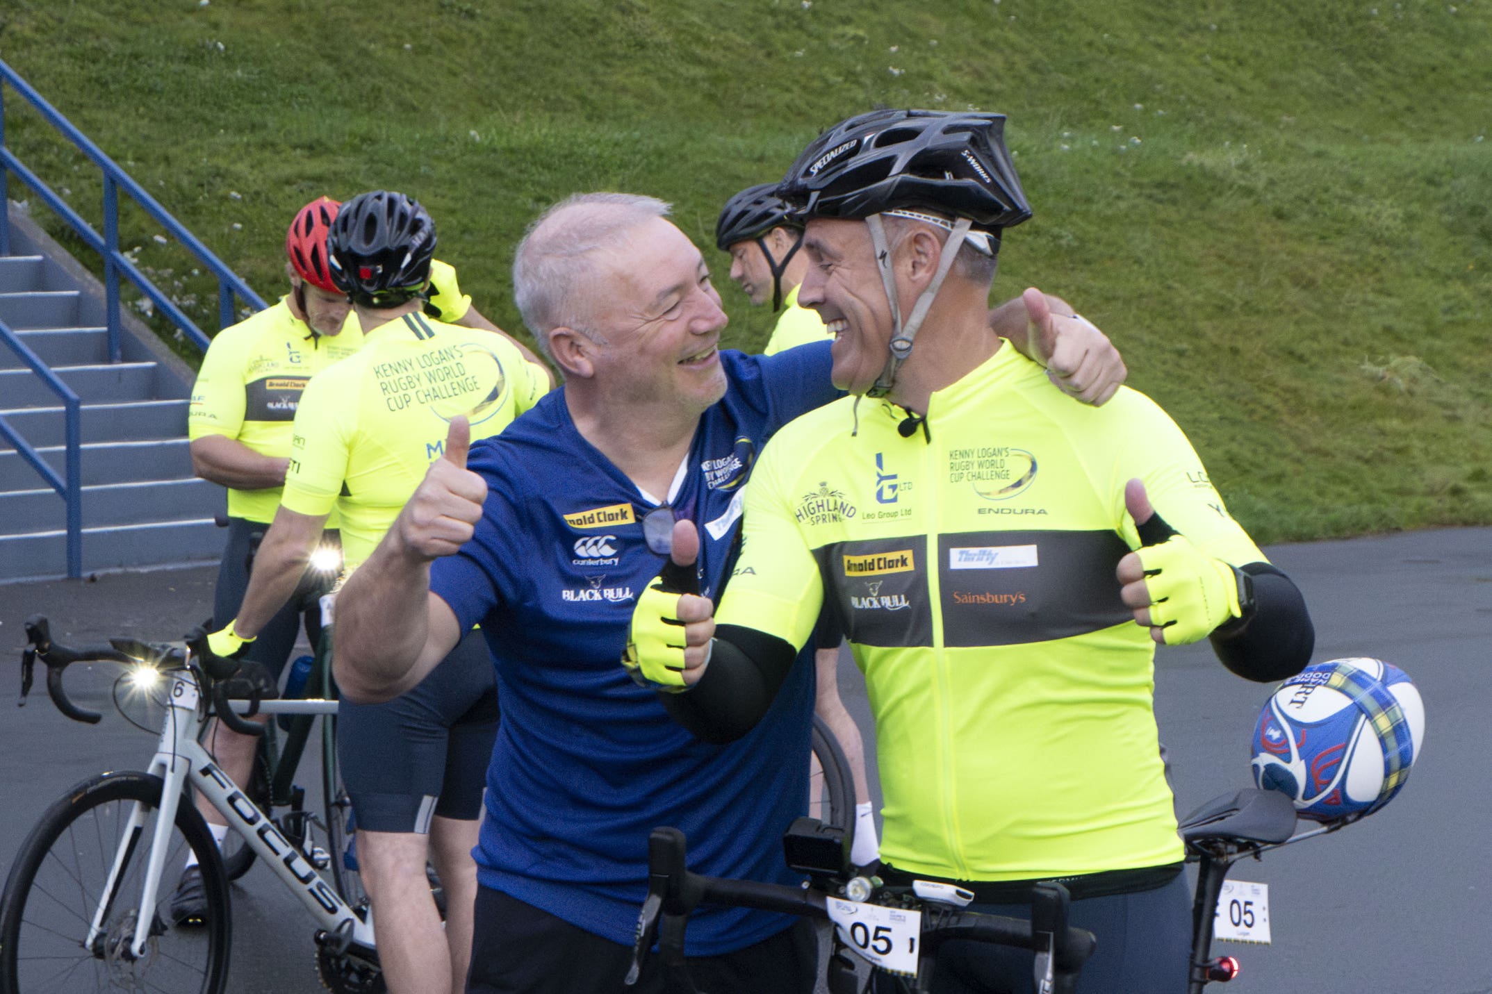
[[[1313,632],[1159,407],[1128,389],[1067,404],[989,334],[1001,232],[1029,216],[1003,124],[874,112],[789,170],[782,194],[807,221],[800,300],[834,332],[834,383],[855,396],[762,452],[718,617],[651,584],[630,665],[676,720],[731,741],[827,605],[876,717],[882,876],[956,882],[1000,914],[1029,914],[1031,885],[1058,879],[1071,922],[1098,937],[1080,991],[1180,994],[1191,915],[1155,645],[1210,638],[1267,681],[1304,666]],[[676,525],[674,560],[697,542]],[[934,990],[1031,990],[1031,966],[950,945]]]

